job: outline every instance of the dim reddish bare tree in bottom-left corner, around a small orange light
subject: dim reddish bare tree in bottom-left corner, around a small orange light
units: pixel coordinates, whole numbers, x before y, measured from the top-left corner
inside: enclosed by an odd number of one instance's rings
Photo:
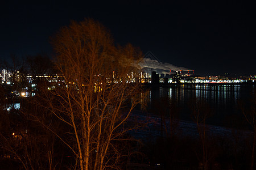
[[[23,103],[23,111],[14,108],[11,108],[10,111],[7,110],[9,103],[3,91],[4,89],[1,88],[1,158],[8,158],[12,163],[16,162],[24,169],[54,169],[57,165],[53,162],[55,135],[23,114],[24,112],[27,115],[31,114],[28,112],[35,113],[35,109],[32,109],[30,105]],[[29,111],[25,111],[24,108]],[[41,118],[41,120],[46,121],[46,118]],[[49,120],[47,118],[47,121]]]

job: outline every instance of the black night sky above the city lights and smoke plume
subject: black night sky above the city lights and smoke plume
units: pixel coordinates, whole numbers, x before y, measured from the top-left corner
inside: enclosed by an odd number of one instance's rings
[[[42,3],[39,3],[42,2]],[[0,57],[52,54],[49,37],[93,18],[115,42],[196,74],[256,75],[255,4],[232,1],[10,1],[0,4]]]

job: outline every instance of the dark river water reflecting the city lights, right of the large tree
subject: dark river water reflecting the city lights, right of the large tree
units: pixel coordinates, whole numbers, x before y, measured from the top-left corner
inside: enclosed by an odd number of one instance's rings
[[[144,100],[141,102],[147,105],[148,113],[158,107],[166,108],[173,102],[178,108],[179,119],[193,121],[191,103],[200,99],[210,109],[208,124],[243,129],[248,127],[241,112],[241,103],[249,108],[254,91],[255,84],[252,83],[174,84],[169,87],[151,87],[150,90],[143,91],[141,95]]]

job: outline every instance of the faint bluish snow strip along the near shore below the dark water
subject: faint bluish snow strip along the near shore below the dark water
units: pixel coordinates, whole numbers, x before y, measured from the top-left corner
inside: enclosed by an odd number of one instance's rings
[[[167,128],[169,128],[169,121],[165,121]],[[137,139],[153,139],[156,137],[160,137],[162,134],[163,136],[165,136],[166,134],[164,130],[163,133],[161,133],[161,118],[155,115],[152,116],[150,114],[134,111],[131,114],[128,122],[138,122],[139,124],[145,124],[143,128],[131,132],[131,134]],[[174,120],[172,124],[174,124],[174,134],[179,137],[199,137],[197,125],[195,124],[195,122]],[[236,137],[240,139],[245,139],[252,134],[252,132],[249,130],[237,130],[214,125],[205,125],[205,128],[206,135],[211,138]]]

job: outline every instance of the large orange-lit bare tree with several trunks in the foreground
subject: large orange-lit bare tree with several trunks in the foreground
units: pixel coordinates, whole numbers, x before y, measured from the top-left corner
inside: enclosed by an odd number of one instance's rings
[[[131,45],[115,48],[109,32],[92,19],[61,28],[52,44],[63,80],[41,95],[43,107],[70,131],[63,137],[49,129],[70,148],[80,169],[120,168],[117,143],[131,129],[125,122],[139,102],[139,85],[126,80],[137,70],[141,52]]]

